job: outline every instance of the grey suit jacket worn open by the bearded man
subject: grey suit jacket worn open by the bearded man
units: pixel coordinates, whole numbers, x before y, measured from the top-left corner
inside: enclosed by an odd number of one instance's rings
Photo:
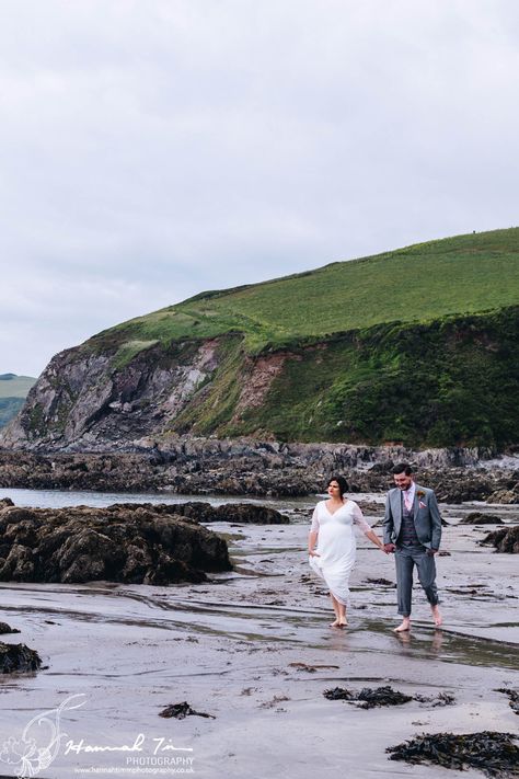
[[[416,484],[413,508],[415,529],[419,542],[428,549],[439,549],[441,542],[441,516],[434,491]],[[402,491],[396,486],[390,490],[385,496],[384,543],[396,543],[401,527]]]

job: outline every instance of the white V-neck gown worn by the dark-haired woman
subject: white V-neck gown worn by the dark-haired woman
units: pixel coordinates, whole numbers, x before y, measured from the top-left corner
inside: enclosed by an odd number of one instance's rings
[[[325,501],[318,503],[310,528],[318,531],[315,551],[319,554],[309,557],[310,565],[318,576],[324,578],[332,595],[345,606],[349,604],[349,574],[357,552],[354,525],[358,525],[364,532],[371,529],[358,504],[348,499],[333,514]]]

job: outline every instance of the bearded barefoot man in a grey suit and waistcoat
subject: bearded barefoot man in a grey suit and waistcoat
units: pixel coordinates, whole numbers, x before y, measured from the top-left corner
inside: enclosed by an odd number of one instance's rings
[[[396,564],[396,594],[402,625],[396,633],[411,629],[411,595],[413,569],[430,604],[435,626],[441,626],[436,588],[435,554],[441,540],[441,517],[432,490],[419,486],[413,480],[413,470],[406,462],[393,468],[396,486],[388,492],[384,516],[384,551],[394,552]]]

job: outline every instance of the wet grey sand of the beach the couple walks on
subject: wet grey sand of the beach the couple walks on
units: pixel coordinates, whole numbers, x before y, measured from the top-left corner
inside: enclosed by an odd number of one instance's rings
[[[492,526],[458,526],[469,509],[445,507],[452,525],[442,542],[450,555],[437,560],[440,631],[418,587],[411,634],[392,632],[395,589],[367,580],[394,582],[393,559],[364,537],[350,626],[330,628],[326,591],[303,551],[301,502],[289,526],[212,524],[228,537],[235,571],[209,584],[0,585],[0,619],[22,631],[3,640],[27,643],[48,666],[0,679],[0,751],[33,717],[82,695],[72,701],[81,708],[62,712],[67,735],[37,776],[482,776],[412,767],[385,754],[423,732],[519,730],[507,697],[495,691],[519,687],[518,558],[478,547]],[[517,511],[492,507],[507,522],[517,522]],[[430,697],[451,692],[457,702],[365,711],[322,695],[385,684]],[[184,700],[216,719],[159,717]],[[16,767],[0,763],[2,771],[15,776]]]

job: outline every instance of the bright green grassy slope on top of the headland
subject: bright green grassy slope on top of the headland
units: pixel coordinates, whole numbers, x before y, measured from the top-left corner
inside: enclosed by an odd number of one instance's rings
[[[241,332],[251,352],[391,321],[427,322],[519,303],[519,228],[457,236],[207,291],[99,333],[126,362],[147,346]]]

